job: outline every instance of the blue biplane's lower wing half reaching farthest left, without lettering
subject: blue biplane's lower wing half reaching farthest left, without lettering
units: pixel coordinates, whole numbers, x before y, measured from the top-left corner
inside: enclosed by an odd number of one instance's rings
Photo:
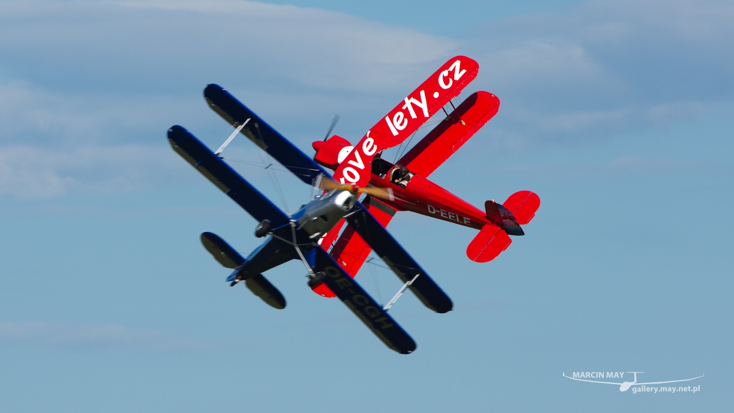
[[[214,155],[208,147],[181,126],[168,130],[168,142],[197,171],[211,180],[217,188],[228,194],[245,211],[258,221],[269,219],[274,227],[288,224],[288,216],[273,205],[255,187],[244,180],[234,169]]]

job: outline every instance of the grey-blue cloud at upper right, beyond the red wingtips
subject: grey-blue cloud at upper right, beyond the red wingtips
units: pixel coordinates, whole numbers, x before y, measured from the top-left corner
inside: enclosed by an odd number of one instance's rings
[[[604,139],[697,117],[734,99],[734,4],[590,1],[483,26],[476,83],[493,126],[534,145]],[[488,72],[488,73],[487,73]]]

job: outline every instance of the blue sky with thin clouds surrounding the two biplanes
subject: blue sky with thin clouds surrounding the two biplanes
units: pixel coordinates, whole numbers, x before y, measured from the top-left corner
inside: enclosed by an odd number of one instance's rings
[[[1,1],[3,410],[727,411],[733,19],[727,1]],[[335,113],[355,142],[457,54],[480,65],[459,99],[501,109],[432,180],[542,204],[483,264],[476,231],[393,219],[455,304],[390,310],[418,350],[385,348],[295,262],[266,274],[286,310],[229,288],[198,235],[247,253],[256,222],[165,139],[228,136],[203,87],[310,153]],[[226,155],[267,161],[244,139]],[[233,166],[290,212],[308,200]],[[374,266],[357,279],[382,301],[399,288]],[[673,395],[562,377],[598,370],[706,376]]]

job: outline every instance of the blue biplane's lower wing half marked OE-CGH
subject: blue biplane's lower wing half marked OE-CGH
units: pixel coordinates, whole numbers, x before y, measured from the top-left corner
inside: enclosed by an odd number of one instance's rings
[[[316,265],[313,271],[325,274],[324,284],[344,301],[362,322],[374,332],[385,345],[399,352],[410,354],[415,351],[415,342],[393,318],[382,310],[377,302],[346,274],[336,261],[323,249],[316,247]]]

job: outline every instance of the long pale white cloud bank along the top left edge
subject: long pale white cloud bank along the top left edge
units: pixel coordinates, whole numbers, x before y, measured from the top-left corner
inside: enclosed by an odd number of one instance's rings
[[[4,64],[61,87],[176,90],[190,81],[227,78],[385,91],[409,79],[410,69],[457,46],[455,40],[339,12],[254,1],[7,5],[0,14],[0,50],[15,62]]]

